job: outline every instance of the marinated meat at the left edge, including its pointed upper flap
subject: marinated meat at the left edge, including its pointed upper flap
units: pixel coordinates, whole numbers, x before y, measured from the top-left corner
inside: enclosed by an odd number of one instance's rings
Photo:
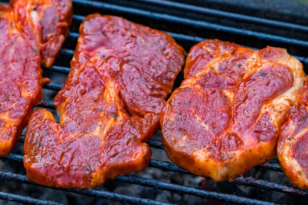
[[[68,32],[70,0],[0,5],[0,155],[16,145],[43,97],[41,63],[50,66]]]

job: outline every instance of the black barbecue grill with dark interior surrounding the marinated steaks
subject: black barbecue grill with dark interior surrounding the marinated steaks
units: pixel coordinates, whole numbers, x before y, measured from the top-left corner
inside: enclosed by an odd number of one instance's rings
[[[65,76],[70,71],[69,61],[74,54],[76,41],[79,37],[79,25],[86,15],[94,12],[122,16],[136,23],[154,29],[167,31],[180,45],[184,46],[186,51],[189,51],[192,45],[206,38],[228,40],[255,49],[271,45],[287,48],[290,54],[300,59],[304,64],[304,67],[307,67],[308,54],[306,51],[308,49],[308,26],[305,25],[308,24],[308,17],[305,19],[305,15],[302,17],[297,15],[298,13],[303,12],[303,10],[294,13],[284,13],[284,15],[281,16],[278,9],[277,13],[272,12],[270,13],[271,15],[268,15],[271,18],[269,19],[263,17],[266,16],[266,11],[270,10],[253,7],[253,2],[254,1],[251,2],[251,7],[249,7],[249,4],[244,7],[244,5],[232,4],[228,0],[196,0],[194,2],[188,0],[182,2],[180,0],[104,0],[104,2],[93,0],[73,0],[73,24],[68,38],[63,45],[61,54],[56,60],[55,65],[50,69],[43,67],[44,76],[50,77],[52,82],[44,86],[44,101],[39,105],[39,107],[55,110],[52,100],[57,91],[62,88],[62,84],[64,83],[63,80],[65,80]],[[232,6],[237,11],[241,11],[241,8],[243,7],[244,11],[242,13],[247,13],[250,10],[257,12],[258,9],[261,12],[259,13],[259,17],[257,17],[257,15],[247,16],[227,11],[231,9]],[[297,9],[304,8],[306,9],[305,6],[297,7]],[[177,77],[174,89],[180,86],[182,80],[183,72]],[[22,147],[24,140],[25,136],[22,135],[18,146]],[[160,140],[150,139],[147,144],[154,149],[164,152]],[[15,148],[8,156],[0,158],[5,161],[10,161],[10,163],[13,164],[19,163],[19,166],[22,167],[23,155],[17,148]],[[168,161],[152,159],[149,167],[150,168],[147,169],[160,169],[164,172],[168,172],[168,175],[175,175],[175,173],[184,174],[182,177],[192,175]],[[277,162],[264,163],[254,169],[265,169],[273,173],[282,172]],[[15,170],[14,173],[0,170],[0,180],[6,181],[7,183],[12,183],[11,181],[14,181],[30,184],[29,187],[31,187],[31,185],[40,186],[31,182],[24,173],[24,170]],[[267,199],[262,196],[248,198],[237,193],[237,186],[245,186],[247,188],[253,187],[257,190],[269,190],[273,194],[280,192],[283,197],[295,195],[300,199],[308,200],[308,191],[298,189],[291,185],[284,185],[255,178],[253,176],[238,176],[234,178],[232,182],[229,182],[234,189],[232,193],[230,193],[230,191],[209,191],[200,187],[189,187],[182,184],[164,182],[154,178],[137,176],[136,174],[118,176],[114,180],[126,184],[136,184],[142,187],[151,187],[179,194],[212,199],[215,200],[216,203],[217,201],[221,201],[225,204],[239,203],[249,205],[270,205],[284,203],[283,201],[280,202],[278,199],[275,201],[266,201]],[[169,203],[159,202],[149,198],[128,196],[100,188],[64,189],[52,187],[51,189],[60,190],[62,192],[72,192],[89,197],[114,200],[123,204],[170,205]],[[46,201],[43,199],[36,199],[29,196],[21,196],[20,194],[6,192],[0,192],[0,199],[31,205],[62,205],[61,203],[54,201]]]

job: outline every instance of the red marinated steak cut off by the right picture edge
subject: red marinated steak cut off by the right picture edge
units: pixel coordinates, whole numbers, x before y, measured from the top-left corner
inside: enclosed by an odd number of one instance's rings
[[[277,154],[292,184],[308,189],[308,79],[281,127]]]

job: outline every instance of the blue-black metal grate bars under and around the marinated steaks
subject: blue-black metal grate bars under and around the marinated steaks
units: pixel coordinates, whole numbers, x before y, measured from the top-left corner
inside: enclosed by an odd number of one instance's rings
[[[66,75],[70,71],[69,61],[74,54],[74,51],[72,49],[74,49],[76,45],[76,40],[79,37],[79,34],[76,31],[78,30],[81,21],[85,18],[84,15],[93,12],[100,12],[101,14],[119,15],[134,22],[150,26],[152,28],[166,30],[166,32],[172,35],[180,45],[183,45],[185,47],[187,51],[195,43],[202,41],[206,38],[212,38],[212,36],[216,35],[222,40],[234,41],[236,43],[245,44],[252,48],[263,47],[263,45],[267,44],[285,47],[288,48],[289,52],[294,55],[299,55],[301,51],[307,50],[308,48],[308,39],[296,39],[294,37],[297,34],[298,35],[303,35],[303,33],[307,34],[308,27],[303,25],[296,25],[292,23],[280,22],[276,20],[269,20],[258,17],[250,17],[242,14],[234,14],[230,12],[219,11],[215,9],[209,9],[194,5],[187,5],[184,3],[179,3],[176,1],[168,1],[168,0],[105,0],[104,2],[90,1],[90,0],[73,0],[73,2],[75,8],[74,12],[76,14],[73,16],[74,21],[71,28],[71,32],[69,33],[68,39],[64,44],[63,49],[61,50],[60,57],[57,59],[55,63],[56,65],[52,66],[50,69],[46,69],[43,67],[44,75],[46,73],[54,73],[54,72]],[[166,8],[168,9],[167,13],[165,12]],[[187,14],[185,16],[178,16],[177,12],[179,10],[182,10],[182,12],[184,11]],[[215,24],[205,21],[206,18],[204,18],[205,17],[204,15],[212,16],[212,18],[238,21],[240,23],[248,22],[251,24],[258,24],[259,26],[261,25],[262,27],[275,27],[278,29],[286,29],[289,30],[289,33],[291,33],[294,36],[285,37],[276,34],[271,34],[270,29],[268,30],[268,33],[265,33],[254,30],[254,28],[248,30],[224,24]],[[203,33],[200,33],[197,30],[201,30],[203,31]],[[306,56],[295,56],[295,57],[300,59],[305,66],[308,65],[308,58]],[[180,73],[179,77],[177,78],[174,89],[180,85],[182,80],[183,80],[183,72]],[[62,84],[53,82],[46,84],[44,86],[45,91],[46,90],[59,91],[61,88]],[[39,107],[55,110],[52,98],[49,99],[46,96],[44,97],[44,101],[42,102],[42,104],[39,105]],[[25,136],[22,135],[20,143],[23,143],[24,140]],[[147,142],[147,144],[156,149],[163,149],[162,143],[159,140],[150,139]],[[9,160],[14,163],[23,163],[23,155],[21,154],[11,153],[8,156],[0,157],[0,159]],[[165,172],[171,172],[170,175],[173,174],[172,172],[191,175],[190,173],[186,172],[177,165],[167,161],[152,159],[149,167],[160,169]],[[257,168],[275,172],[282,172],[279,164],[273,162],[261,164],[257,166]],[[41,186],[30,181],[25,175],[14,174],[5,171],[0,171],[0,180],[15,181],[15,182]],[[135,175],[118,176],[115,180],[127,184],[137,184],[144,187],[152,187],[155,189],[167,190],[176,193],[183,193],[196,197],[202,197],[205,199],[216,199],[224,202],[250,204],[250,205],[275,204],[273,202],[265,202],[257,199],[250,199],[238,196],[236,194],[226,194],[214,191],[206,191],[199,188],[188,187],[174,183],[167,183],[160,180],[140,177]],[[274,182],[269,182],[251,176],[236,177],[232,181],[232,183],[234,183],[235,185],[245,185],[249,187],[266,189],[270,191],[276,191],[296,196],[308,196],[308,191],[298,189],[294,186],[287,186]],[[105,191],[101,189],[64,189],[57,187],[51,187],[51,189],[61,190],[64,192],[72,192],[80,195],[103,198],[108,200],[114,200],[127,204],[170,205],[168,203],[157,202],[154,200],[138,198],[133,196],[127,196],[124,194]],[[24,203],[24,204],[33,204],[33,205],[47,205],[47,204],[62,205],[56,202],[39,200],[31,197],[24,197],[4,192],[0,192],[0,199],[12,202]]]

